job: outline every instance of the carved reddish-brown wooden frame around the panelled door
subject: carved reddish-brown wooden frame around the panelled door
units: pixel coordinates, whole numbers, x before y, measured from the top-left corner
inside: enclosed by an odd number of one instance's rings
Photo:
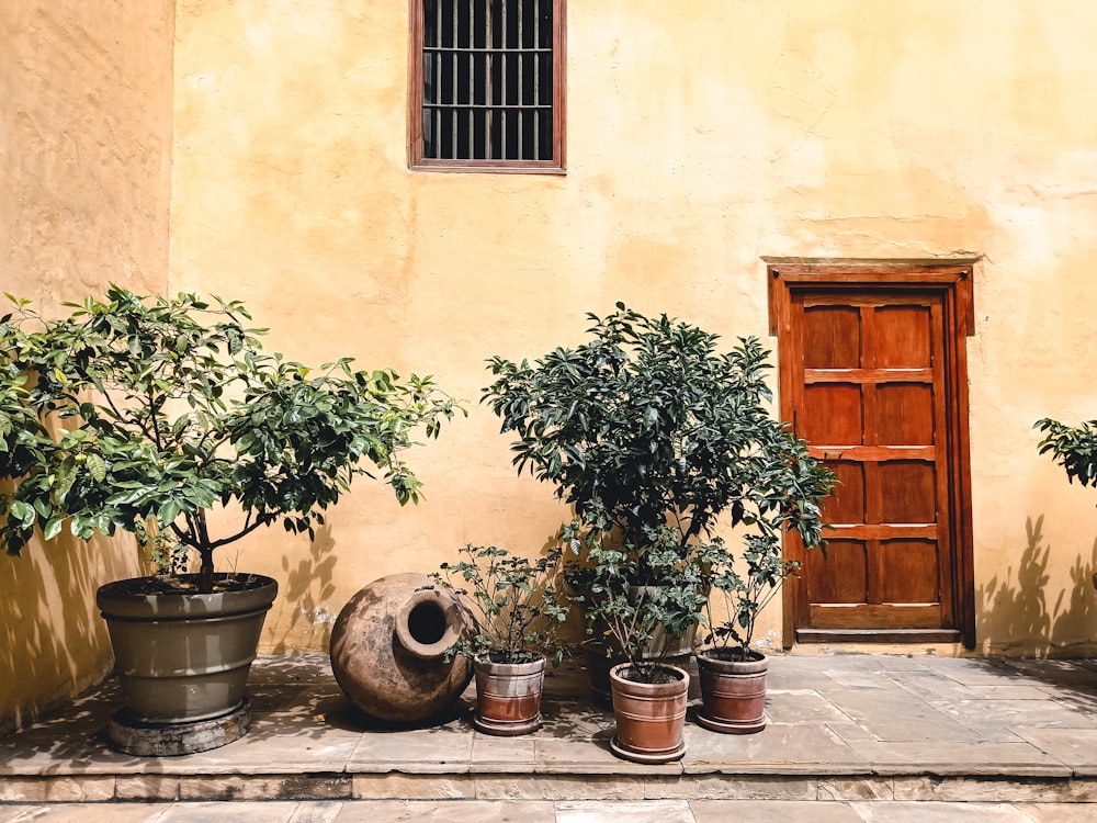
[[[968,347],[975,331],[974,267],[981,257],[930,260],[872,260],[860,258],[761,258],[769,283],[769,334],[778,339],[780,415],[793,417],[794,370],[787,362],[792,330],[792,294],[795,291],[894,289],[939,294],[945,306],[945,382],[948,409],[948,472],[950,542],[953,546],[955,629],[968,649],[975,646],[975,575],[972,551],[971,469],[968,429]],[[795,642],[795,616],[802,587],[784,590],[784,646]],[[890,636],[898,640],[900,636]],[[919,640],[921,638],[918,638]]]

